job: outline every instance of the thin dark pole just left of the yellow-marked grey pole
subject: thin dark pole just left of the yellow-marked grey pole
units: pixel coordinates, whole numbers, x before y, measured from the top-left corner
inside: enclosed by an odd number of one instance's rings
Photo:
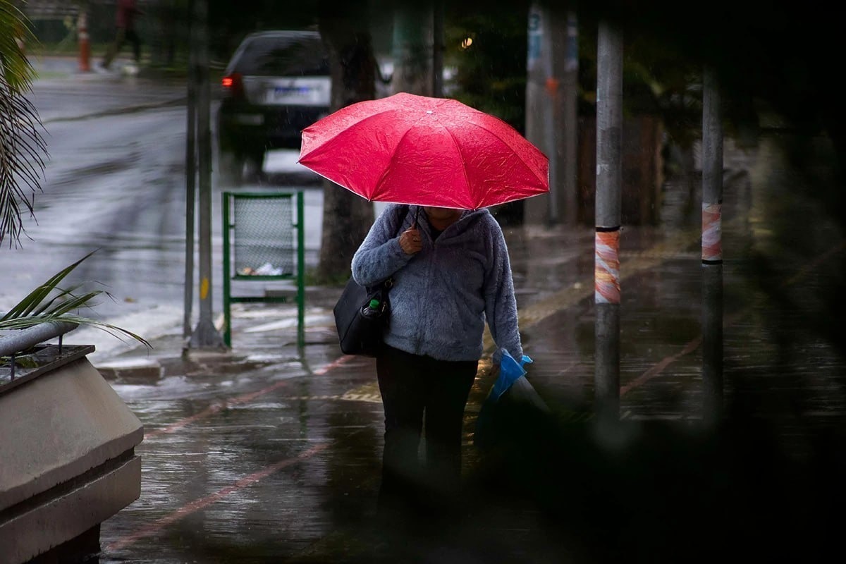
[[[195,51],[195,26],[191,24],[194,14],[194,0],[188,2],[188,123],[185,138],[185,316],[182,337],[185,342],[191,336],[191,315],[194,307],[194,219],[196,205],[196,134],[197,134],[197,57]]]

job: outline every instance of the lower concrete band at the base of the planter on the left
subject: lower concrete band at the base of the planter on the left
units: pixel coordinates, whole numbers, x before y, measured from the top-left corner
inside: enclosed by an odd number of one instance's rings
[[[21,564],[84,534],[140,496],[141,459],[129,460],[0,522],[3,564]]]

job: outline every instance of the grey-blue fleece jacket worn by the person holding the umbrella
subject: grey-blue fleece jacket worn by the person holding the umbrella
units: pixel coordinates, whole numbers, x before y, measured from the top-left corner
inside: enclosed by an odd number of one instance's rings
[[[416,205],[388,205],[353,256],[353,278],[362,286],[393,275],[387,345],[440,360],[478,360],[487,321],[497,343],[493,362],[503,349],[519,362],[514,281],[497,220],[484,208],[464,211],[432,241],[426,211],[417,212]],[[399,235],[415,215],[423,249],[406,255]]]

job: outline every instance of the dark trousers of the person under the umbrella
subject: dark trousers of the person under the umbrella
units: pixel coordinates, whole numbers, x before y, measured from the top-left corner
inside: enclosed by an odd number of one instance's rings
[[[464,406],[477,367],[476,361],[448,362],[391,347],[376,359],[385,409],[378,500],[382,515],[437,517],[456,501]]]

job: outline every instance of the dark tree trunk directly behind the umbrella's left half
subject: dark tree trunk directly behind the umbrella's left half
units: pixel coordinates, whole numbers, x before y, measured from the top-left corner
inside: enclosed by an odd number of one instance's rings
[[[324,0],[318,25],[327,44],[332,74],[332,112],[376,95],[376,57],[365,2]],[[373,224],[371,202],[336,183],[323,183],[323,233],[316,282],[341,282]]]

